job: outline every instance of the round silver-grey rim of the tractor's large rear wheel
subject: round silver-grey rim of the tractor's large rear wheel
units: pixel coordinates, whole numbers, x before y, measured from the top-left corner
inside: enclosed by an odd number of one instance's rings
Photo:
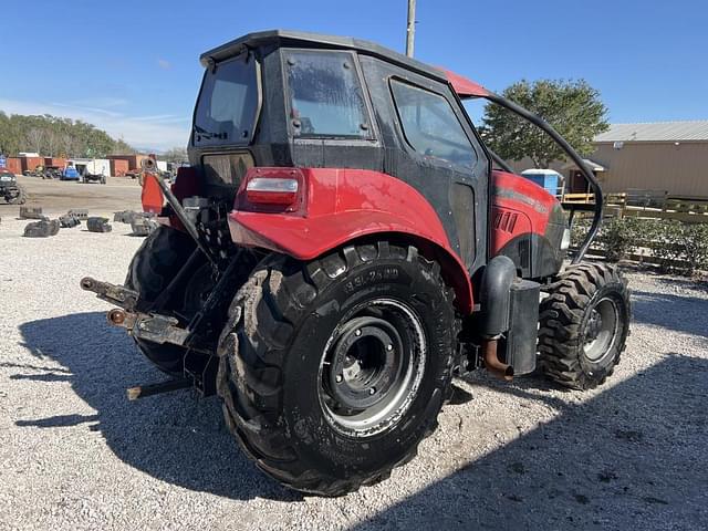
[[[394,426],[417,396],[426,337],[406,304],[376,299],[345,315],[327,340],[317,392],[337,431],[367,437]]]

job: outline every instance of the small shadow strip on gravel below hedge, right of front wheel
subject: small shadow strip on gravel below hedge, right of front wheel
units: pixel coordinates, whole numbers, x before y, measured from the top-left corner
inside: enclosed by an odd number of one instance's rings
[[[708,337],[708,296],[633,291],[632,304],[634,321]]]

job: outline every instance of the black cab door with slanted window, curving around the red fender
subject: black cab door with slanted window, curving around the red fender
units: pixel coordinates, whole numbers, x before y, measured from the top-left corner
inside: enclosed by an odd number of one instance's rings
[[[489,159],[447,83],[361,58],[385,145],[385,173],[438,214],[470,274],[487,262]]]

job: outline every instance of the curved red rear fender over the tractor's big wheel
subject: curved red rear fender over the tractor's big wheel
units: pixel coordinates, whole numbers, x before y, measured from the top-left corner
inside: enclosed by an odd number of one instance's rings
[[[302,183],[303,205],[296,211],[257,211],[244,200],[256,176],[290,177]],[[347,241],[376,233],[408,236],[420,253],[436,259],[455,290],[456,305],[473,309],[467,269],[450,247],[438,215],[416,189],[379,171],[335,168],[251,168],[229,215],[237,244],[261,247],[312,260]]]

